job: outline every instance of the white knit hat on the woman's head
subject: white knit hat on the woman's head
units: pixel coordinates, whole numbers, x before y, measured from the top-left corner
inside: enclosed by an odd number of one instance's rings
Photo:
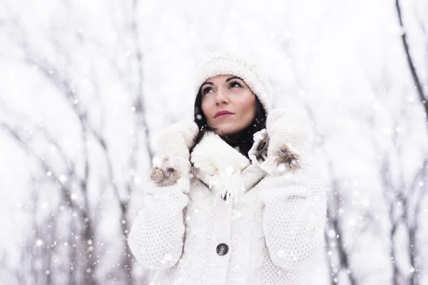
[[[254,63],[230,52],[217,51],[212,53],[209,60],[200,66],[196,78],[195,96],[198,95],[200,86],[208,78],[224,74],[242,78],[260,100],[266,115],[269,113],[272,106],[272,90],[269,81],[263,77],[260,68]]]

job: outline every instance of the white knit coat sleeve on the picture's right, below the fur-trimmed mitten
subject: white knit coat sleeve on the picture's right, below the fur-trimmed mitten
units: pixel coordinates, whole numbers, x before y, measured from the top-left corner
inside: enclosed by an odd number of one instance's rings
[[[324,240],[327,200],[319,168],[303,162],[300,169],[263,180],[263,233],[272,262],[293,269]]]

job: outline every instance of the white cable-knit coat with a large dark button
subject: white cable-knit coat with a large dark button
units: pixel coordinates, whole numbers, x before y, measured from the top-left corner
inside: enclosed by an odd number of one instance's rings
[[[297,140],[295,129],[284,144]],[[243,157],[220,138],[203,143],[216,160]],[[178,183],[151,184],[128,237],[136,259],[158,270],[151,284],[301,284],[300,264],[323,244],[326,219],[325,187],[310,157],[301,151],[301,168],[283,175],[253,160],[239,171],[245,190],[235,202],[210,189],[212,175],[180,160]]]

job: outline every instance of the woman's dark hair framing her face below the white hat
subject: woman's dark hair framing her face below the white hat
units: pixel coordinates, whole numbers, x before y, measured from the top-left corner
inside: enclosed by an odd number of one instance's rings
[[[263,105],[260,103],[260,100],[257,96],[255,96],[255,118],[253,122],[248,125],[247,128],[244,130],[240,130],[240,132],[235,133],[233,135],[219,135],[220,138],[222,138],[225,142],[228,143],[231,147],[239,147],[239,152],[242,155],[245,155],[245,157],[248,158],[248,151],[253,146],[254,133],[258,132],[259,130],[263,130],[266,128],[266,112],[263,108]],[[195,123],[198,125],[199,133],[195,138],[195,145],[197,145],[200,140],[203,138],[203,135],[207,130],[215,130],[215,128],[211,128],[207,120],[205,118],[205,115],[202,111],[202,92],[201,90],[198,91],[198,95],[195,99]],[[193,147],[190,148],[190,153],[193,151]]]

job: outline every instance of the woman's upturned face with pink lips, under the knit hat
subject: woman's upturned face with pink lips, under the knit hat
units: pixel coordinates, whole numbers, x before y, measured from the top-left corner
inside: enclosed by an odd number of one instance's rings
[[[231,75],[208,78],[200,87],[202,111],[208,125],[218,135],[233,135],[253,122],[256,113],[255,94],[245,82]],[[219,115],[219,111],[231,114]]]

